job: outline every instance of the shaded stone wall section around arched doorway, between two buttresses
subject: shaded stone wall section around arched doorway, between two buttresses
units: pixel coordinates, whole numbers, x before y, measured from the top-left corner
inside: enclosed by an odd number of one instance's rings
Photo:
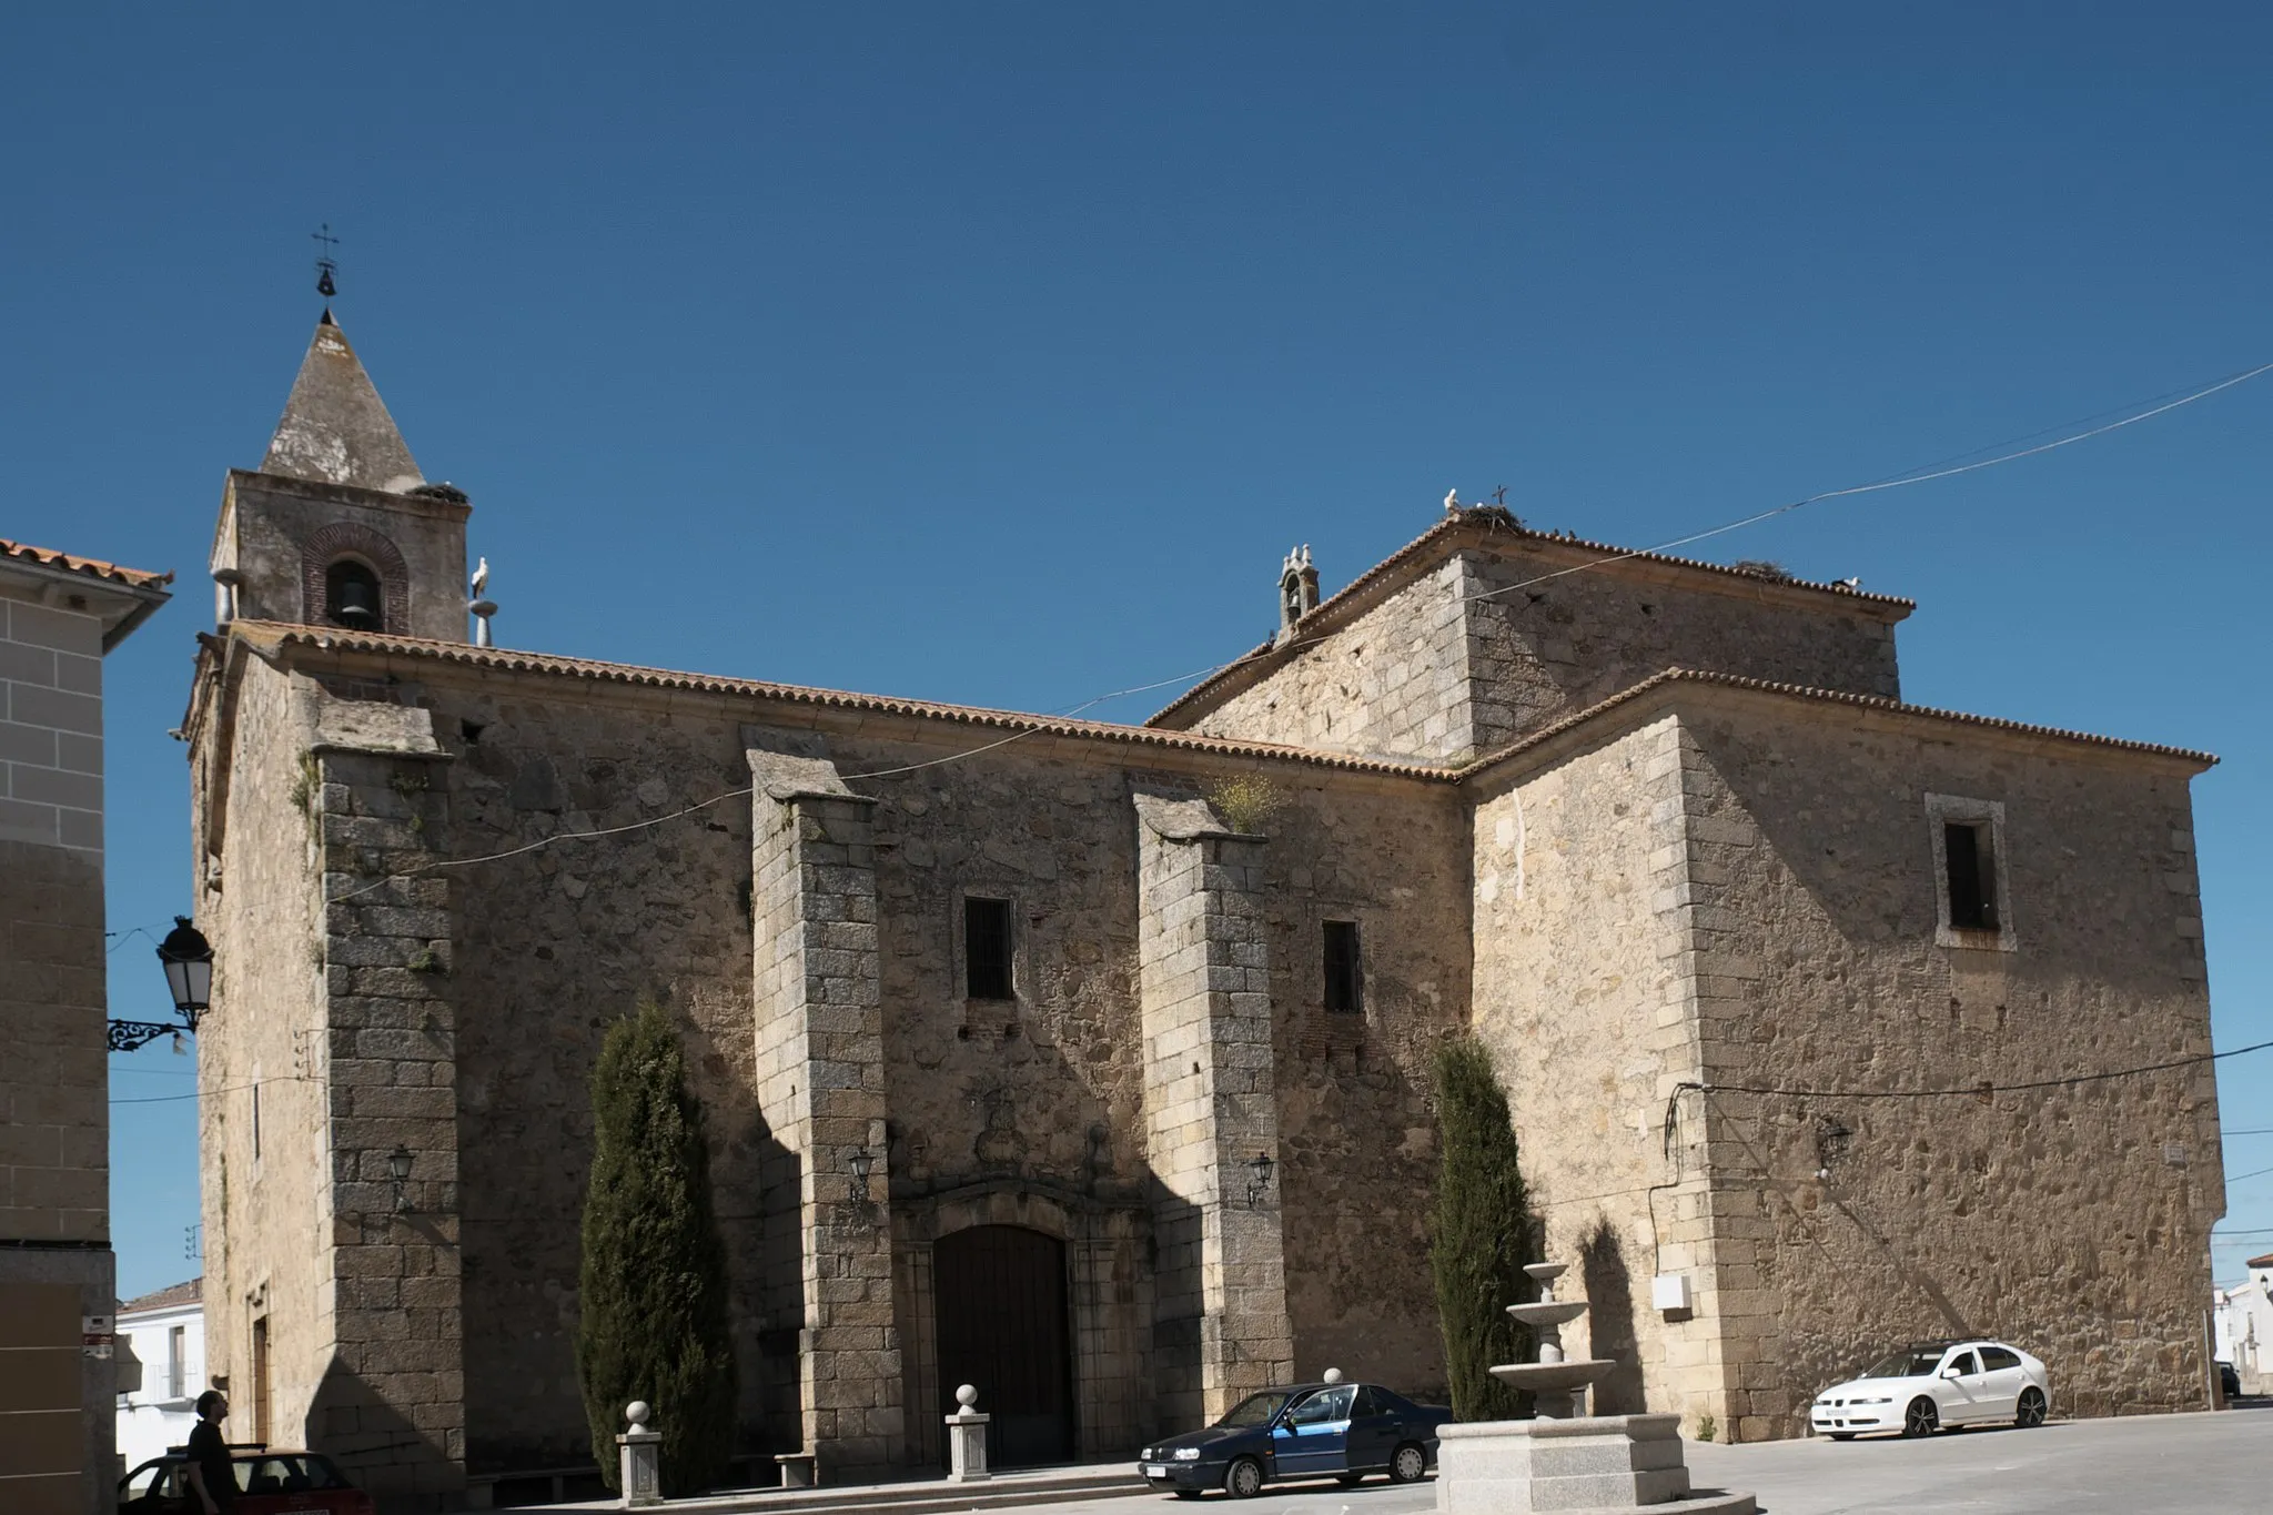
[[[966,1224],[1064,1240],[1077,1454],[1157,1433],[1152,1197],[1136,1013],[1136,836],[1118,772],[1025,745],[873,781],[884,1081],[909,1458],[939,1463],[932,1245]],[[921,761],[864,754],[859,768]],[[1011,906],[1011,999],[973,999],[964,899]],[[984,1386],[982,1404],[984,1404]]]

